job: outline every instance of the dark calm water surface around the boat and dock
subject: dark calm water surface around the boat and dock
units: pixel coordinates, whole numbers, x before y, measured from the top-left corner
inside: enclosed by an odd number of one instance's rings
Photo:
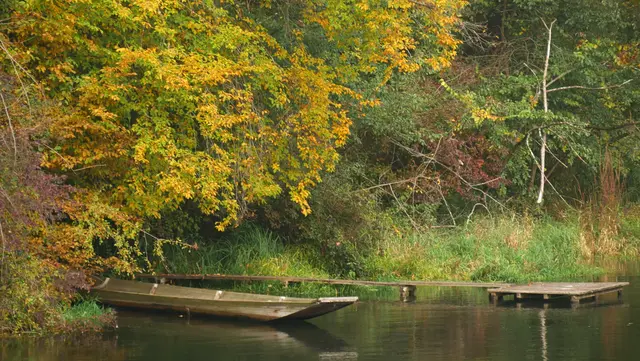
[[[365,301],[287,325],[121,311],[100,336],[0,341],[0,360],[640,360],[640,277],[615,280],[631,282],[624,303],[577,309],[423,288],[413,304]]]

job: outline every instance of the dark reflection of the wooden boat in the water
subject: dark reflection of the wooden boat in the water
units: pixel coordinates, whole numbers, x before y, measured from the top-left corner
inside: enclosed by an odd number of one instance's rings
[[[327,355],[348,356],[357,359],[357,353],[350,350],[344,340],[330,332],[307,322],[256,323],[238,320],[194,318],[187,320],[175,314],[140,314],[120,312],[117,335],[121,344],[139,346],[142,342],[130,342],[144,337],[150,347],[141,350],[138,357],[130,354],[129,359],[150,359],[149,354],[161,356],[170,348],[215,350],[217,358],[243,359],[256,354],[272,355],[286,353],[286,359],[296,357],[325,358]],[[153,340],[149,342],[149,340]],[[127,340],[126,342],[124,340]],[[162,352],[157,352],[161,350]],[[194,357],[201,357],[201,351]],[[354,357],[355,356],[355,357]]]

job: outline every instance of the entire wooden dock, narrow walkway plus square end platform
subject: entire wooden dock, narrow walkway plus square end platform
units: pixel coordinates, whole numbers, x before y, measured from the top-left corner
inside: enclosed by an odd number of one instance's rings
[[[366,281],[366,280],[341,280],[310,277],[288,276],[248,276],[248,275],[223,275],[223,274],[136,274],[137,278],[152,278],[155,282],[163,283],[166,280],[213,280],[213,281],[276,281],[285,286],[292,283],[314,282],[331,285],[354,286],[388,286],[398,287],[400,299],[404,302],[415,300],[416,287],[476,287],[486,288],[489,299],[496,304],[505,296],[513,296],[514,300],[539,299],[552,300],[556,298],[569,298],[573,303],[580,303],[583,299],[596,299],[607,293],[618,293],[622,298],[622,289],[628,286],[628,282],[587,282],[587,283],[530,283],[516,285],[501,282],[455,282],[455,281]]]

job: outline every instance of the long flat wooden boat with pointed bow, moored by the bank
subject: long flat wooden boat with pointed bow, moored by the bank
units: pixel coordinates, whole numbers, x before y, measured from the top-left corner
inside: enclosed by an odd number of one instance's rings
[[[113,306],[261,321],[306,320],[339,310],[358,300],[358,297],[296,298],[256,295],[114,278],[105,279],[93,287],[91,293],[98,296],[101,302]]]

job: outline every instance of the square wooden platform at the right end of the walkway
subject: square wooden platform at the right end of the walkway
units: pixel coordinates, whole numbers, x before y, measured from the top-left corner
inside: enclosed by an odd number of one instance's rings
[[[622,289],[628,282],[583,282],[560,283],[540,282],[527,285],[508,285],[487,290],[492,303],[501,302],[505,296],[513,296],[514,300],[538,299],[552,300],[569,298],[572,303],[580,303],[584,299],[597,301],[602,295],[617,293],[622,299]]]

